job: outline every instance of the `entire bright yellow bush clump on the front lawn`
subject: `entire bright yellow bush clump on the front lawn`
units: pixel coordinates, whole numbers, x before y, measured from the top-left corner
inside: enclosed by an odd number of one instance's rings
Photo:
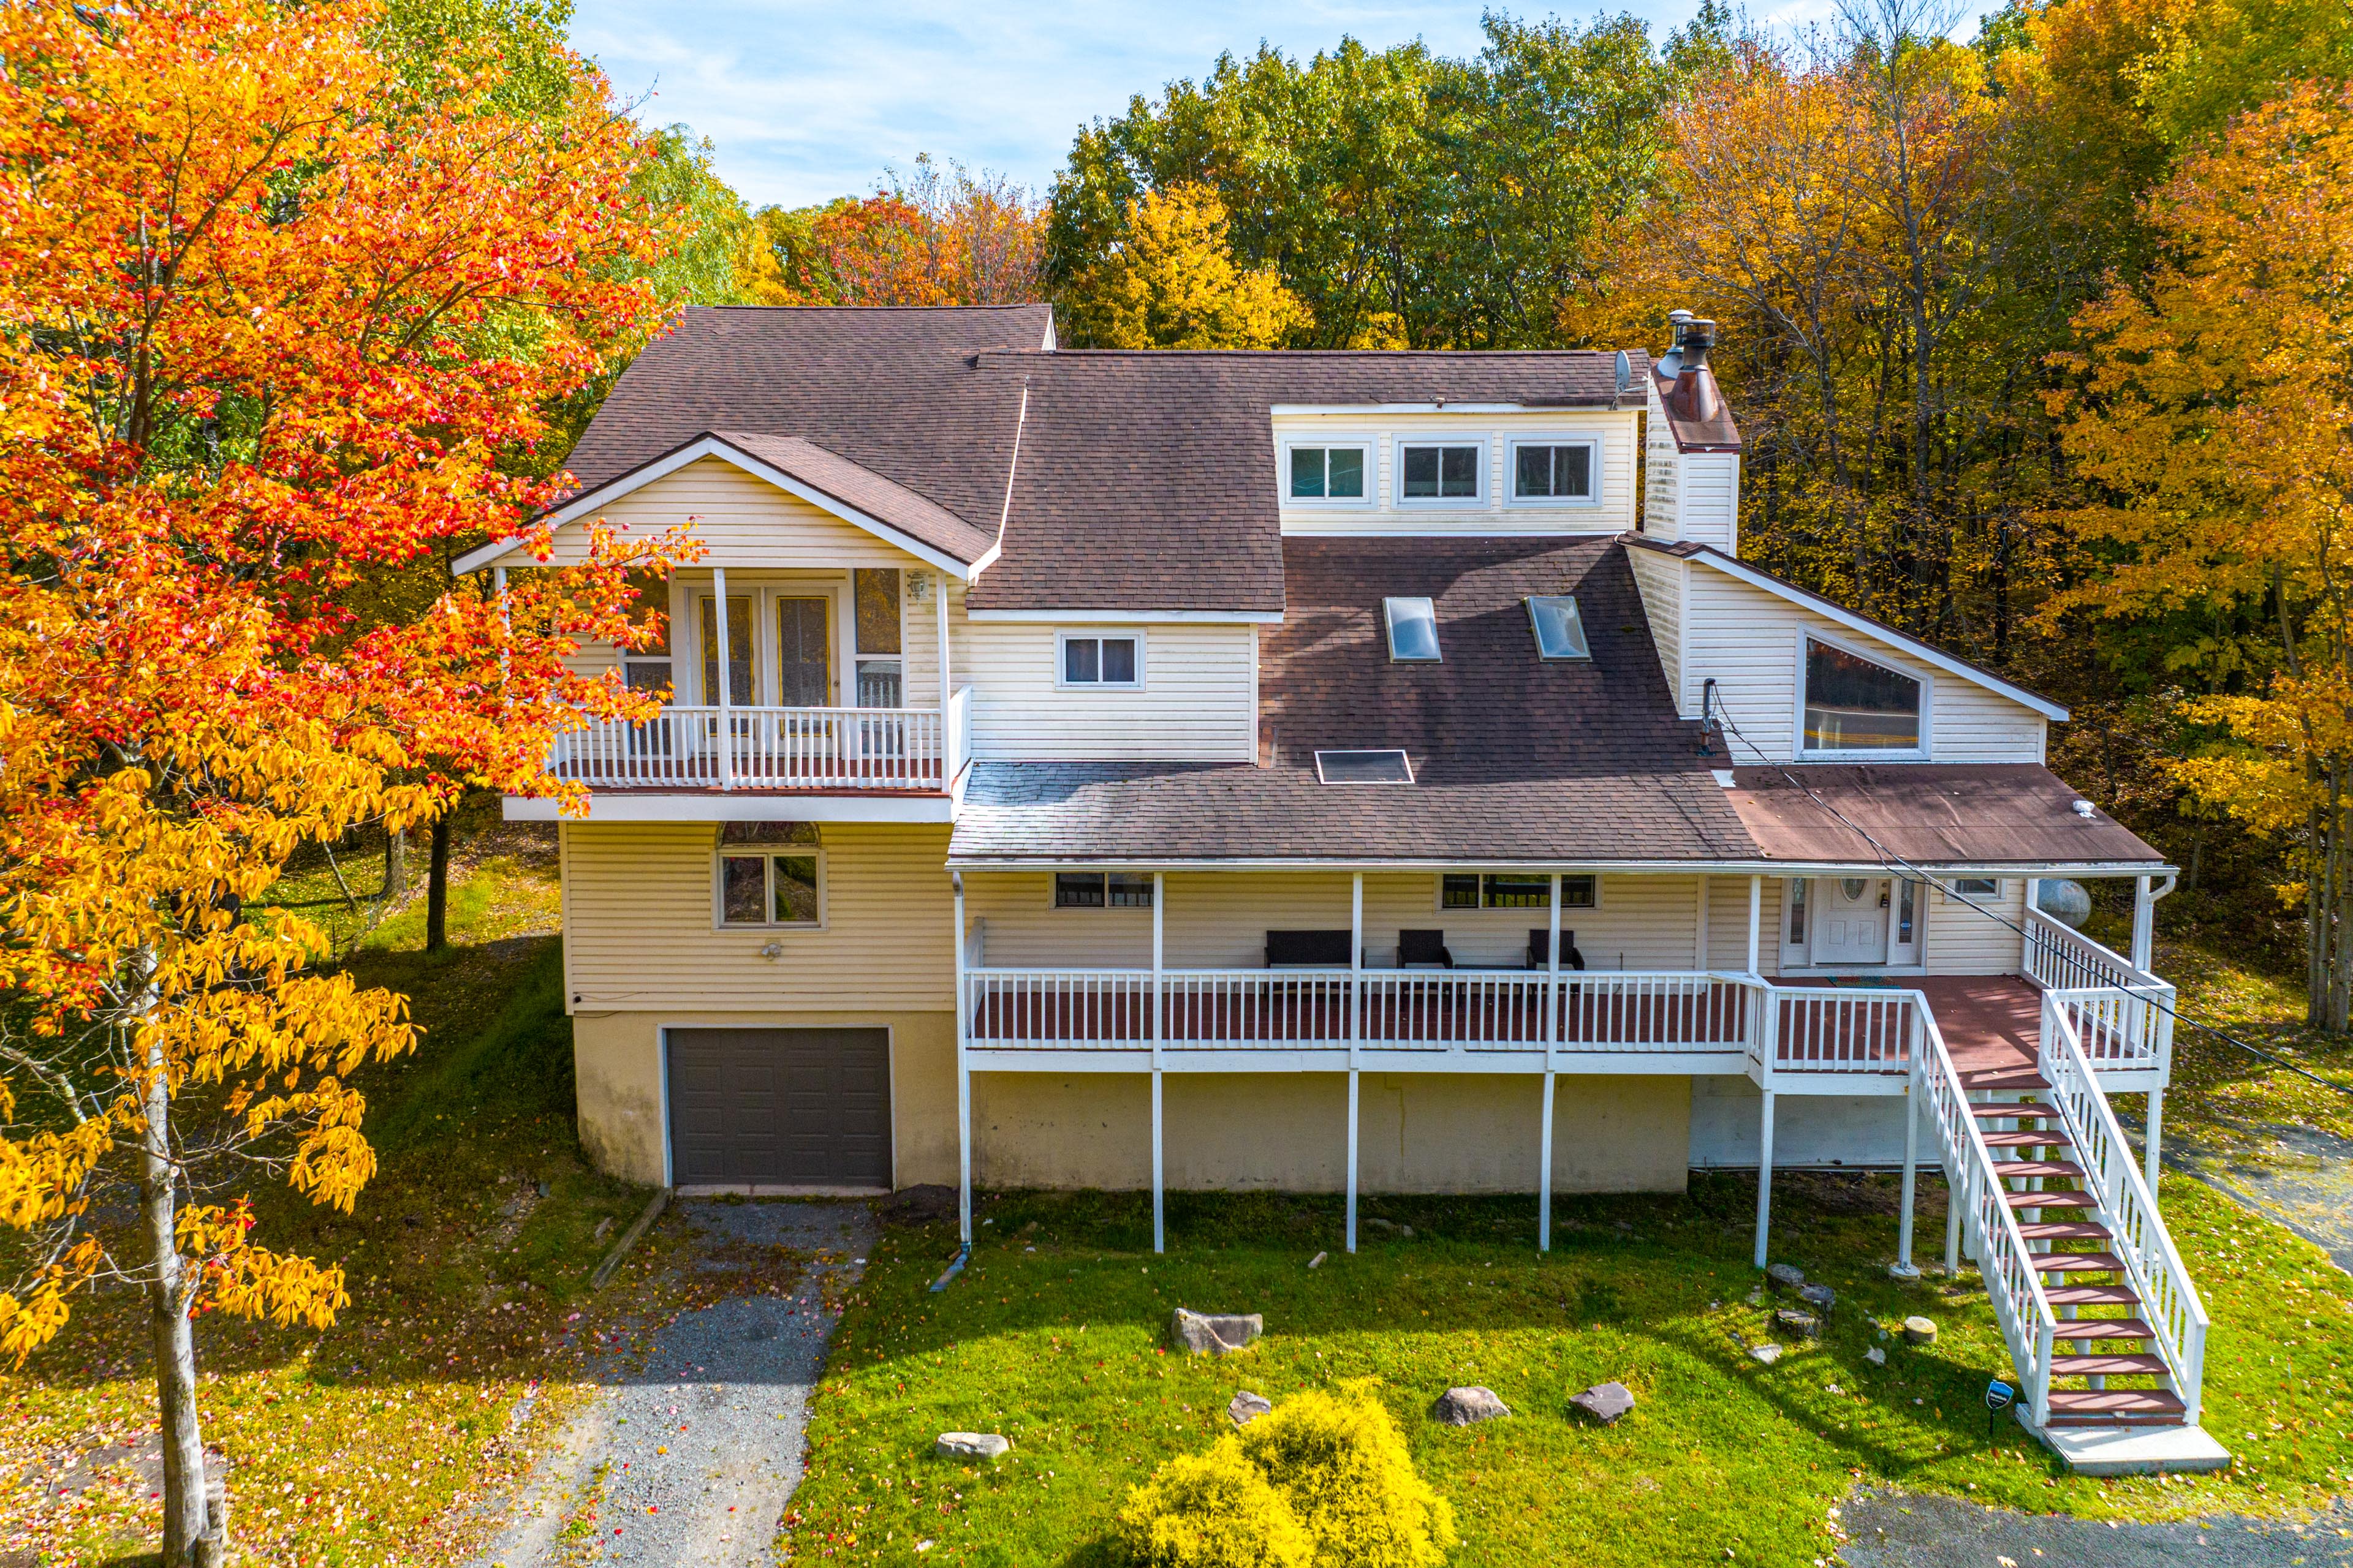
[[[1139,1568],[1438,1568],[1454,1509],[1414,1474],[1377,1399],[1294,1394],[1120,1509]]]

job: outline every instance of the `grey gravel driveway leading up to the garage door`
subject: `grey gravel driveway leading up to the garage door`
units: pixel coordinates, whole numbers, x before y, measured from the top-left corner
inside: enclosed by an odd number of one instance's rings
[[[791,1246],[809,1269],[791,1298],[739,1295],[664,1328],[645,1368],[616,1375],[558,1439],[475,1568],[776,1561],[833,1335],[824,1293],[864,1272],[873,1208],[685,1201],[673,1215],[708,1246]],[[591,1509],[593,1523],[574,1523]]]

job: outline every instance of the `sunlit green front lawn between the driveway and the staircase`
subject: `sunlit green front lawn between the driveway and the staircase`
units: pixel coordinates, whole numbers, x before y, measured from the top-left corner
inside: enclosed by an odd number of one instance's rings
[[[1355,1258],[1329,1199],[1176,1197],[1153,1258],[1139,1199],[1009,1194],[981,1208],[993,1222],[944,1295],[927,1281],[953,1237],[899,1232],[842,1326],[786,1542],[875,1563],[918,1561],[922,1540],[925,1563],[1108,1563],[1127,1488],[1224,1432],[1238,1389],[1280,1401],[1367,1375],[1461,1514],[1457,1561],[1482,1566],[1812,1563],[1857,1481],[2092,1519],[2268,1514],[2346,1490],[2348,1281],[2205,1187],[2167,1185],[2165,1201],[2217,1319],[2207,1425],[2240,1465],[2165,1481],[2068,1476],[2017,1425],[1988,1429],[1986,1380],[2009,1375],[1991,1307],[1974,1276],[1885,1276],[1892,1180],[1777,1185],[1774,1253],[1840,1293],[1821,1345],[1777,1333],[1774,1302],[1748,1300],[1753,1194],[1694,1178],[1682,1199],[1562,1201],[1551,1255],[1529,1201],[1381,1199],[1367,1208],[1414,1239],[1367,1227]],[[1308,1269],[1315,1251],[1332,1255]],[[1176,1305],[1264,1312],[1268,1338],[1231,1361],[1167,1354]],[[1911,1312],[1939,1321],[1934,1347],[1882,1338]],[[1746,1354],[1767,1338],[1791,1347],[1772,1368]],[[1605,1380],[1640,1403],[1595,1429],[1567,1396]],[[1515,1415],[1431,1422],[1428,1403],[1468,1382]],[[934,1460],[946,1429],[1005,1432],[1014,1450]]]

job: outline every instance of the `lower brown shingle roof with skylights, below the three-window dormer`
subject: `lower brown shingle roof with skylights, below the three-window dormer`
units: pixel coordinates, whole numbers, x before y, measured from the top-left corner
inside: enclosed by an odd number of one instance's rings
[[[979,764],[951,856],[1718,860],[1753,853],[1675,717],[1609,538],[1289,538],[1261,632],[1273,766]],[[1537,658],[1522,599],[1574,592],[1588,663]],[[1391,663],[1381,599],[1431,597],[1442,661]],[[1412,785],[1325,785],[1315,750],[1405,748]]]

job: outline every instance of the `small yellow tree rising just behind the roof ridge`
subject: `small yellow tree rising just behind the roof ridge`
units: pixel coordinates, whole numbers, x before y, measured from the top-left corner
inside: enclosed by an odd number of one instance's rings
[[[1127,233],[1073,315],[1096,348],[1278,348],[1313,324],[1273,266],[1233,261],[1226,205],[1191,181],[1127,202]]]

